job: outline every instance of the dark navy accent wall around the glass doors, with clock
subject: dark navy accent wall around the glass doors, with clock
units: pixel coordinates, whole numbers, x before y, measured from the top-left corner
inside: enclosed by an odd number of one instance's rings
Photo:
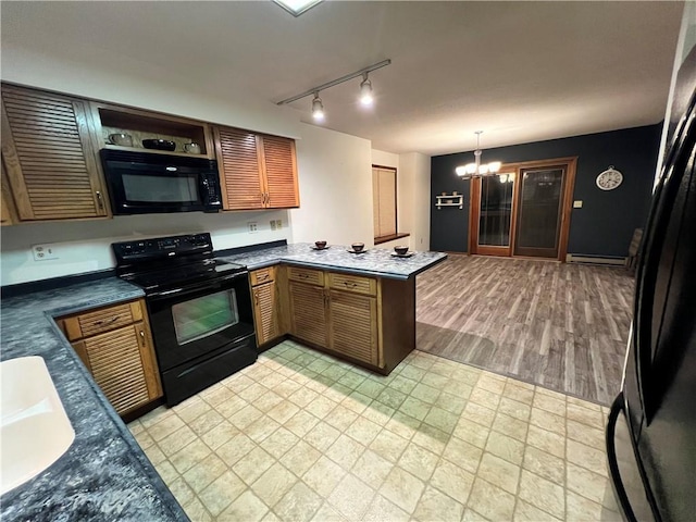
[[[609,133],[484,149],[482,159],[517,163],[577,157],[573,200],[582,209],[571,213],[568,253],[627,256],[633,231],[647,219],[662,124]],[[471,163],[473,151],[435,156],[431,159],[431,249],[465,252],[469,245],[470,182],[455,174],[455,167]],[[613,165],[623,173],[614,190],[600,190],[597,175]],[[464,208],[437,210],[435,196],[457,190],[464,195]]]

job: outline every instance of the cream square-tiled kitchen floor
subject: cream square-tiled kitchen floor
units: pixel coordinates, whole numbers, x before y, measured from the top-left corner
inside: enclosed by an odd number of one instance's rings
[[[285,341],[129,424],[194,521],[616,520],[606,409],[430,353]]]

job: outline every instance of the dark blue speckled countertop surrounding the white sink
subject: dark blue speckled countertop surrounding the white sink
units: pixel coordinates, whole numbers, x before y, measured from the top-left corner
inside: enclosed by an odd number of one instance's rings
[[[75,428],[58,461],[0,498],[3,522],[188,520],[51,320],[141,296],[109,277],[2,300],[0,359],[41,356]]]

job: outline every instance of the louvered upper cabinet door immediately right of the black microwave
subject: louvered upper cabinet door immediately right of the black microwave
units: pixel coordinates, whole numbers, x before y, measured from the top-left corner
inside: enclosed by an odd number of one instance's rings
[[[261,181],[260,138],[247,130],[213,127],[223,209],[262,209],[265,200]]]

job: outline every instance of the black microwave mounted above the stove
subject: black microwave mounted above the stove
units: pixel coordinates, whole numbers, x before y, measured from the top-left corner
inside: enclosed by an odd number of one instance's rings
[[[204,158],[101,149],[114,215],[217,212],[217,162]]]

